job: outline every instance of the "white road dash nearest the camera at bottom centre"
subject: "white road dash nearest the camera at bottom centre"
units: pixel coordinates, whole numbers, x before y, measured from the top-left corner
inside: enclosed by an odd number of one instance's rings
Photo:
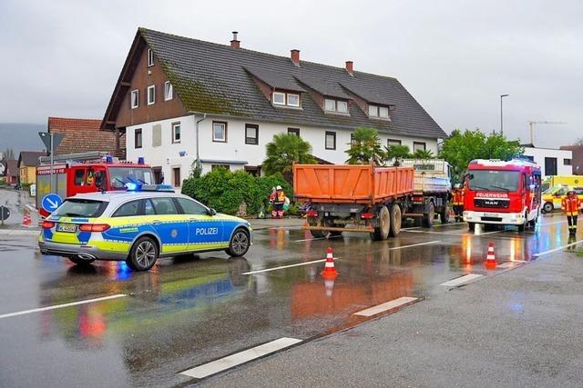
[[[298,340],[296,338],[283,337],[271,341],[270,343],[263,343],[243,352],[228,355],[227,357],[220,358],[219,360],[215,360],[210,363],[204,363],[195,368],[189,369],[188,371],[181,372],[180,374],[202,379],[204,377],[210,376],[211,374],[220,373],[234,366],[240,365],[241,363],[248,363],[251,360],[255,360],[264,355],[277,352],[281,349],[285,349],[301,342],[302,340]]]

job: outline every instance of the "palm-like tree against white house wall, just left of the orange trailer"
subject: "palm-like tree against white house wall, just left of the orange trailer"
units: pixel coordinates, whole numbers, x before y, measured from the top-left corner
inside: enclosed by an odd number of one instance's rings
[[[283,174],[291,182],[292,164],[314,164],[312,145],[296,134],[275,134],[266,145],[266,159],[263,161],[265,174]]]

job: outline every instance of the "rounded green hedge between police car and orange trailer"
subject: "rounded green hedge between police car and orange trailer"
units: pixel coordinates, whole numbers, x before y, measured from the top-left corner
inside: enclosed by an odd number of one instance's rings
[[[258,214],[267,209],[271,188],[281,185],[292,199],[292,186],[281,174],[254,177],[243,170],[234,173],[217,168],[200,177],[191,177],[182,183],[182,194],[224,214]]]

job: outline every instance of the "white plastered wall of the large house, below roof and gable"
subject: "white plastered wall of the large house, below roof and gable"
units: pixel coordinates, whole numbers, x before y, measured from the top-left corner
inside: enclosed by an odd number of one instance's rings
[[[172,144],[171,124],[179,121],[181,125],[181,141]],[[212,122],[227,122],[227,143],[212,141]],[[162,126],[162,144],[152,146],[152,127],[155,124]],[[259,125],[259,144],[245,144],[245,124]],[[199,124],[199,154],[201,160],[246,162],[249,165],[260,165],[265,159],[265,145],[271,142],[274,134],[287,133],[288,127],[300,128],[302,139],[312,144],[312,153],[328,162],[343,164],[347,159],[344,152],[348,149],[351,139],[350,130],[326,129],[322,127],[310,127],[296,124],[261,123],[252,120],[224,119],[219,117],[207,117]],[[142,129],[142,148],[134,148],[135,129]],[[325,133],[336,133],[336,149],[325,149]],[[189,176],[192,163],[196,160],[195,119],[193,115],[177,117],[159,122],[129,126],[126,131],[126,147],[128,160],[137,160],[138,156],[144,156],[146,163],[151,166],[161,166],[167,184],[172,182],[172,168],[180,168],[181,179]],[[406,136],[394,136],[380,134],[383,145],[387,139],[401,140],[402,144],[409,146],[413,151],[413,142],[424,142],[426,149],[437,154],[437,139],[424,139]],[[180,156],[180,152],[185,152]],[[203,172],[210,171],[210,163],[203,163]],[[230,164],[231,170],[244,167],[244,164]]]

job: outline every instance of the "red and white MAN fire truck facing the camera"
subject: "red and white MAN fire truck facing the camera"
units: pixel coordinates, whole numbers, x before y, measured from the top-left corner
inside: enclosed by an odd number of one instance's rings
[[[538,164],[513,159],[477,159],[465,175],[464,221],[476,224],[517,225],[523,231],[537,224],[541,204]]]

